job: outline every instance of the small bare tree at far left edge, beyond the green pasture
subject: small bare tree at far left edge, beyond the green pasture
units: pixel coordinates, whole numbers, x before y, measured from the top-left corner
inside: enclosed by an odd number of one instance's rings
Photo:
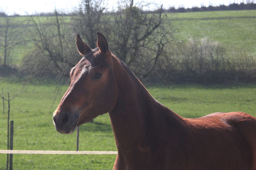
[[[3,66],[7,65],[7,59],[10,56],[11,50],[20,45],[21,29],[18,29],[21,23],[15,20],[15,17],[2,17],[0,20],[0,47],[3,48]]]

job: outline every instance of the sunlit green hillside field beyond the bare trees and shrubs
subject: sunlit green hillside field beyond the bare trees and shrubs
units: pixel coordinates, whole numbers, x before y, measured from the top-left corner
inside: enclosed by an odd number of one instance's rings
[[[209,40],[220,42],[229,51],[243,49],[254,56],[256,54],[256,10],[186,12],[167,15],[177,29],[174,37],[178,41],[186,42],[192,37],[195,39],[207,37]],[[17,17],[17,20],[25,23],[28,18]],[[43,22],[47,17],[39,18]],[[69,17],[64,18],[65,22],[70,22]],[[12,64],[19,64],[21,58],[31,49],[33,49],[31,43],[13,49]],[[3,53],[3,49],[0,50]]]

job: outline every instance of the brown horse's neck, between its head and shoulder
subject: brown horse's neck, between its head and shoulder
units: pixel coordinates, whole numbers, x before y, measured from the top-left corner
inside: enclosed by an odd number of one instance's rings
[[[119,149],[147,150],[152,136],[159,131],[163,119],[178,119],[177,115],[157,102],[145,87],[122,65],[115,75],[118,87],[116,106],[109,113]],[[156,129],[158,128],[158,129]]]

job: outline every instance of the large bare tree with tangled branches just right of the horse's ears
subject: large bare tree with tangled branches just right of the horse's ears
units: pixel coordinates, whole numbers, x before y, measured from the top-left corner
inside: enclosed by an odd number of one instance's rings
[[[133,0],[119,3],[110,41],[115,54],[142,77],[155,68],[174,31],[170,20],[162,14],[162,6],[153,14],[147,14],[143,8],[148,6],[143,2],[134,5]]]

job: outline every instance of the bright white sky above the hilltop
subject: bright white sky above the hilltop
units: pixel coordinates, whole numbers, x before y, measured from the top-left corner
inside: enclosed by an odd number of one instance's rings
[[[72,11],[75,6],[78,6],[81,0],[1,0],[0,11],[7,14],[35,14],[41,12],[52,12],[54,6],[61,11]],[[141,0],[134,0],[134,3]],[[218,6],[229,5],[230,3],[241,3],[246,0],[144,0],[147,2],[163,4],[163,8],[174,6],[175,8],[185,7],[201,7],[204,6]],[[108,9],[116,6],[118,0],[108,0]]]

